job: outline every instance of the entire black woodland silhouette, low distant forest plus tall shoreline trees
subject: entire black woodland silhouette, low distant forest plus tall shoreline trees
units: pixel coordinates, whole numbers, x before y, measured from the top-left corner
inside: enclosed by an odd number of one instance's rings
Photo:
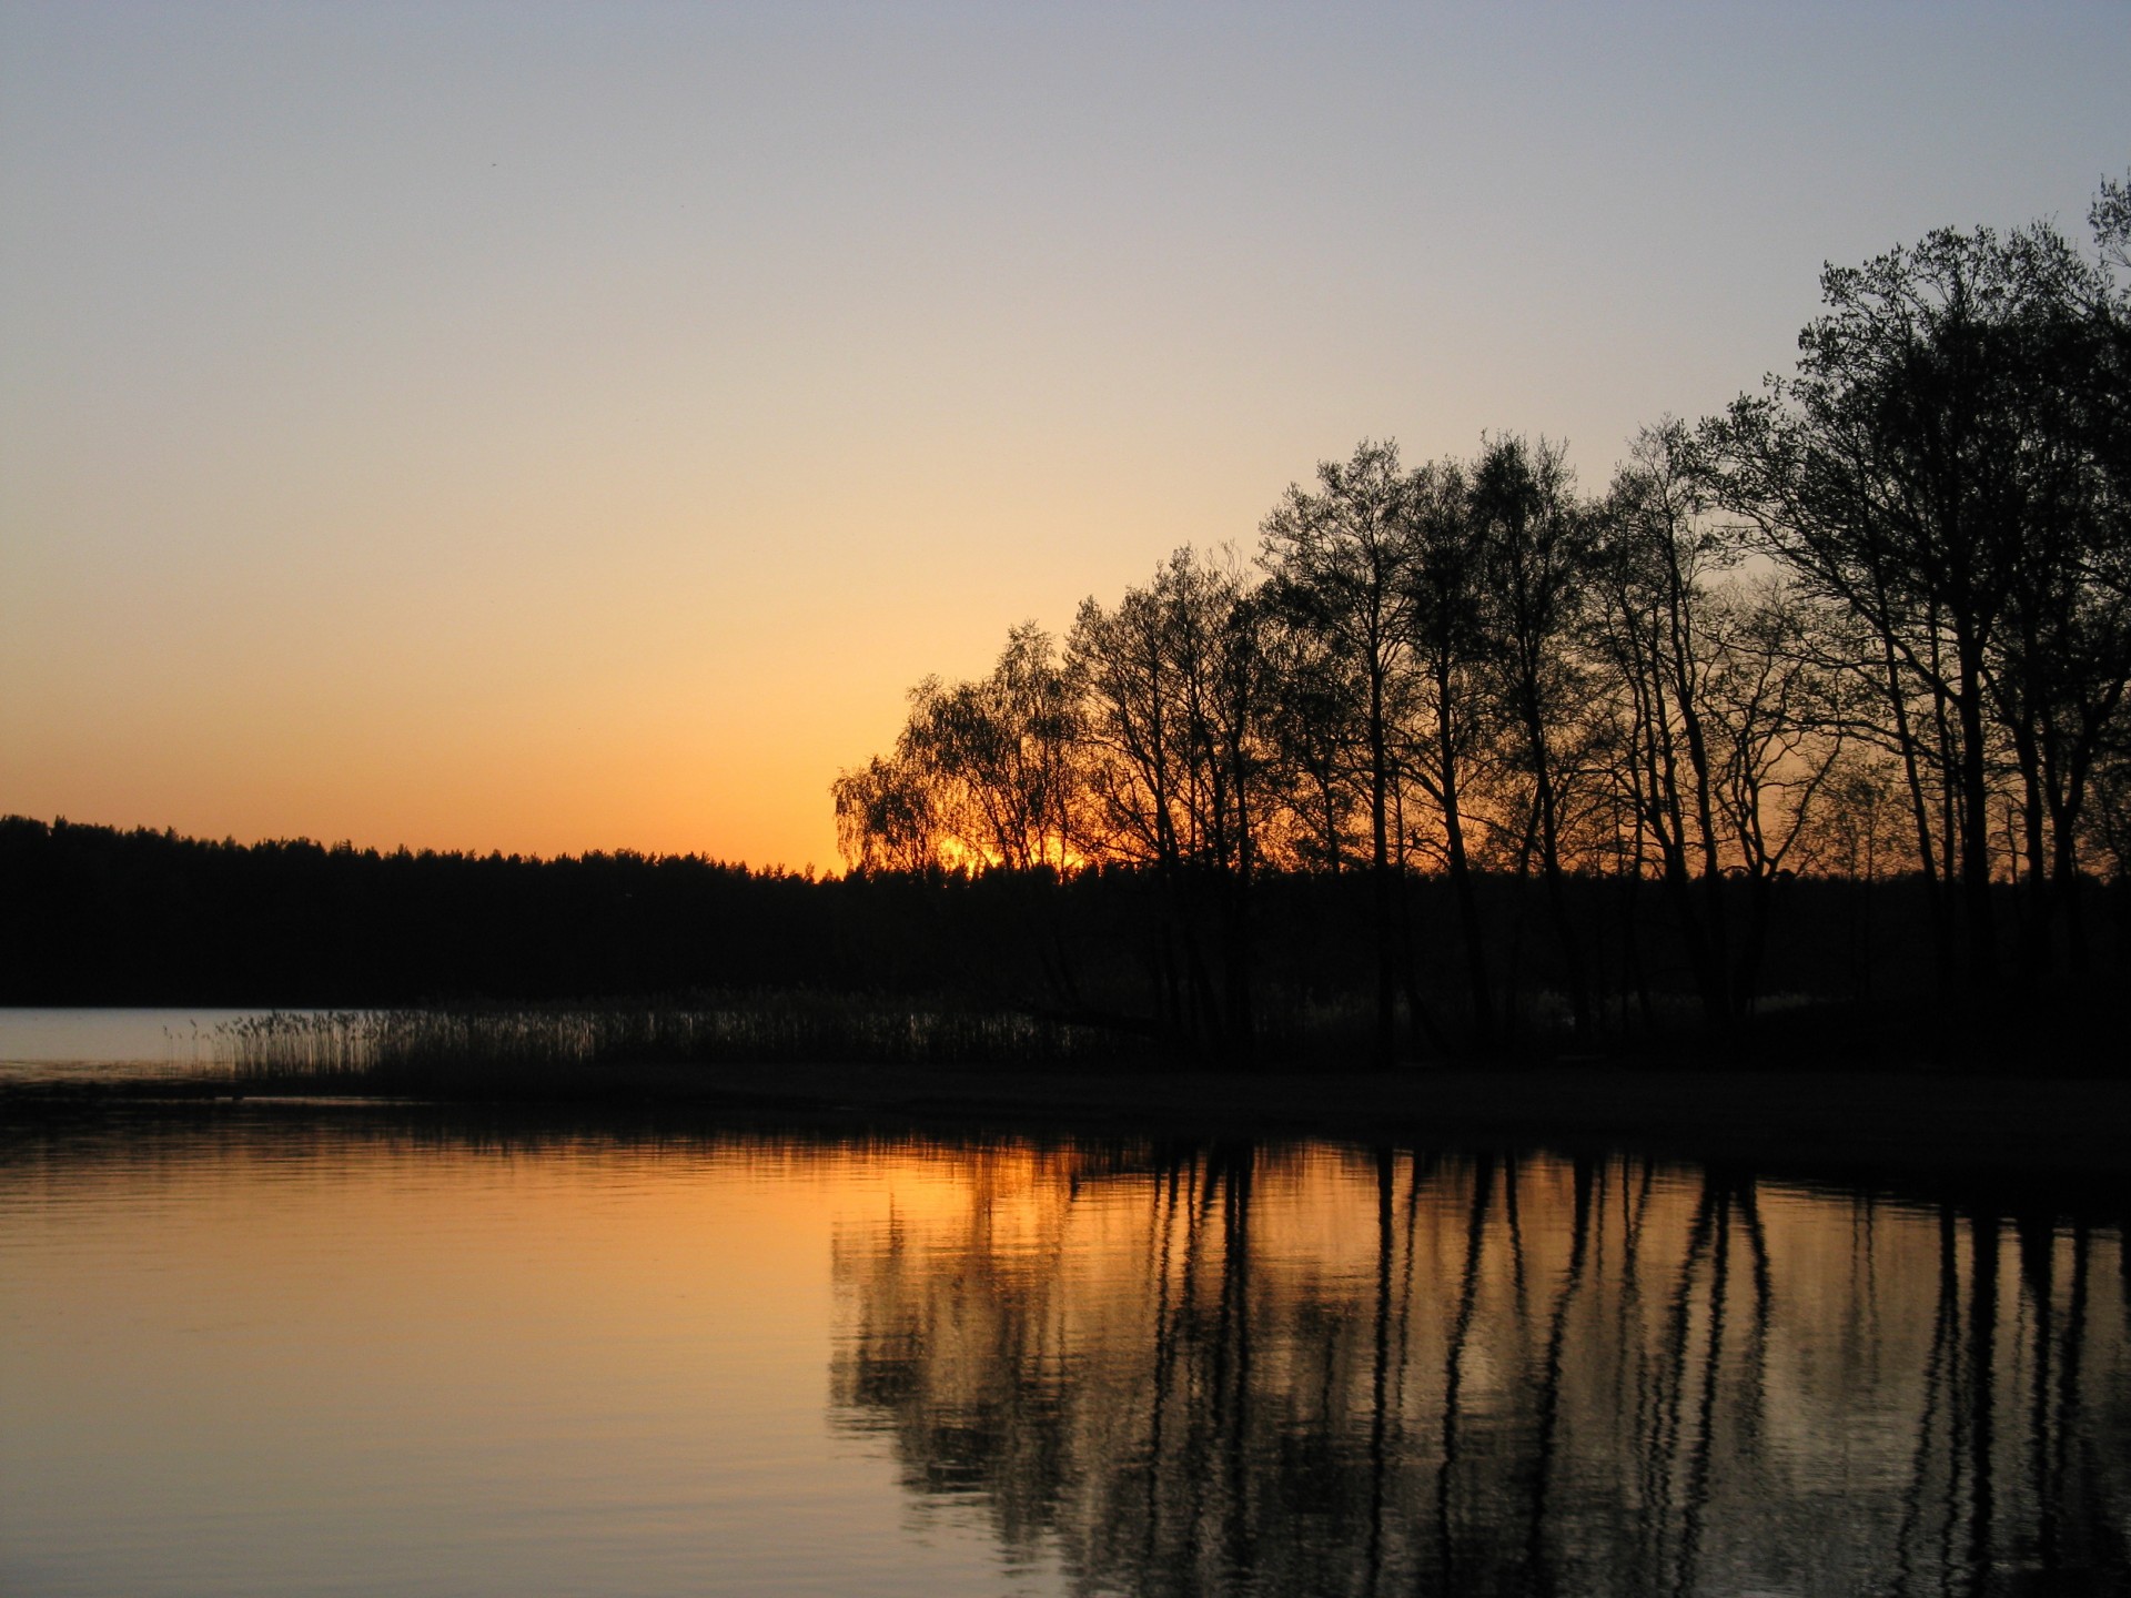
[[[17,816],[0,1001],[823,989],[1232,1063],[2108,1036],[2131,181],[2091,224],[1831,266],[1792,373],[1596,494],[1545,439],[1362,443],[1253,554],[918,684],[833,782],[840,878]]]

